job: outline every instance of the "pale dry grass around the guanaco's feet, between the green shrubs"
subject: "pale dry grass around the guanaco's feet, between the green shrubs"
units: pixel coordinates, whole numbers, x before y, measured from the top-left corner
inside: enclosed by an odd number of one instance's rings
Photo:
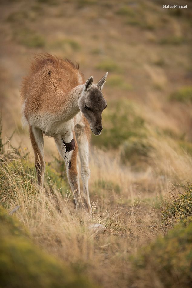
[[[13,148],[2,158],[1,204],[8,211],[20,206],[18,219],[45,251],[104,287],[125,287],[131,269],[129,256],[166,232],[169,227],[161,224],[159,207],[171,196],[173,183],[178,186],[181,179],[190,177],[190,156],[173,149],[171,142],[161,141],[160,148],[157,140],[151,141],[158,157],[155,154],[153,166],[142,172],[122,166],[118,154],[112,158],[110,152],[92,152],[91,218],[85,211],[75,213],[70,191],[61,195],[61,187],[46,185],[38,193],[34,173],[25,170],[30,158],[23,159]],[[103,224],[104,234],[90,232],[90,223]]]

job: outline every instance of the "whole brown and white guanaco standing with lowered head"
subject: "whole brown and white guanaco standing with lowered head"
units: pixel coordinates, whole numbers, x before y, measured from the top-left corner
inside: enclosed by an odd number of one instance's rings
[[[65,161],[76,208],[82,207],[84,202],[90,213],[89,126],[95,135],[101,134],[101,114],[107,106],[101,90],[107,74],[97,84],[93,84],[92,76],[85,82],[78,63],[74,65],[68,59],[49,54],[38,55],[31,65],[30,74],[23,80],[21,91],[22,116],[29,125],[39,189],[43,189],[43,135],[46,135],[54,137],[59,154]],[[83,197],[79,186],[78,154]]]

